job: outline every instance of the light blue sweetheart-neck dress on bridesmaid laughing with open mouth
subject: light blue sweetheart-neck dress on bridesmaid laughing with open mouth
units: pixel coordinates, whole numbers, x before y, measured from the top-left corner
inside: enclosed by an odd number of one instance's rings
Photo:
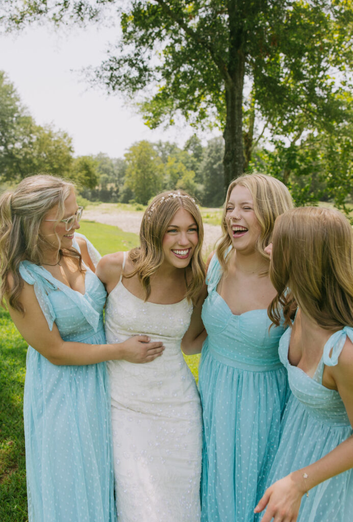
[[[267,310],[233,315],[217,293],[222,272],[216,255],[206,282],[199,390],[204,448],[202,521],[253,522],[279,442],[288,397],[279,361],[283,327],[272,327]]]

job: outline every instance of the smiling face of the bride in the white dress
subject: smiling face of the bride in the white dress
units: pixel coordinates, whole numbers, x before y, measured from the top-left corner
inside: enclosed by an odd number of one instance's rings
[[[190,212],[180,208],[168,223],[162,239],[164,263],[175,268],[189,265],[198,243],[197,224]]]

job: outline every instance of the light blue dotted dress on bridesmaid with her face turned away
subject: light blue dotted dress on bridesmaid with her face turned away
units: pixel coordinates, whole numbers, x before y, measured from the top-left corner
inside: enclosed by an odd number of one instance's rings
[[[313,378],[288,361],[290,333],[288,329],[281,338],[279,355],[288,370],[292,395],[283,416],[280,444],[267,487],[291,471],[319,460],[353,432],[338,392],[322,385],[324,366],[337,364],[347,336],[353,341],[353,328],[346,326],[328,339]],[[312,488],[308,497],[302,497],[297,522],[352,519],[353,471],[348,470]]]

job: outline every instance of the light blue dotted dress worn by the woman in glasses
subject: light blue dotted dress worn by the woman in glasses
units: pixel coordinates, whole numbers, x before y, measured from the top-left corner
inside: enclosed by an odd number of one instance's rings
[[[70,289],[48,270],[20,264],[50,329],[65,341],[105,342],[105,290],[87,269],[85,290]],[[105,363],[54,365],[27,352],[23,405],[30,522],[114,522],[110,393]]]

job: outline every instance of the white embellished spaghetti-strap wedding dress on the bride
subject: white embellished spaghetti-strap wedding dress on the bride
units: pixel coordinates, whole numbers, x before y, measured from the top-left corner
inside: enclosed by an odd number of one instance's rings
[[[136,334],[161,340],[145,364],[109,361],[119,522],[198,522],[202,420],[181,349],[192,305],[144,302],[120,281],[105,310],[107,342]]]

